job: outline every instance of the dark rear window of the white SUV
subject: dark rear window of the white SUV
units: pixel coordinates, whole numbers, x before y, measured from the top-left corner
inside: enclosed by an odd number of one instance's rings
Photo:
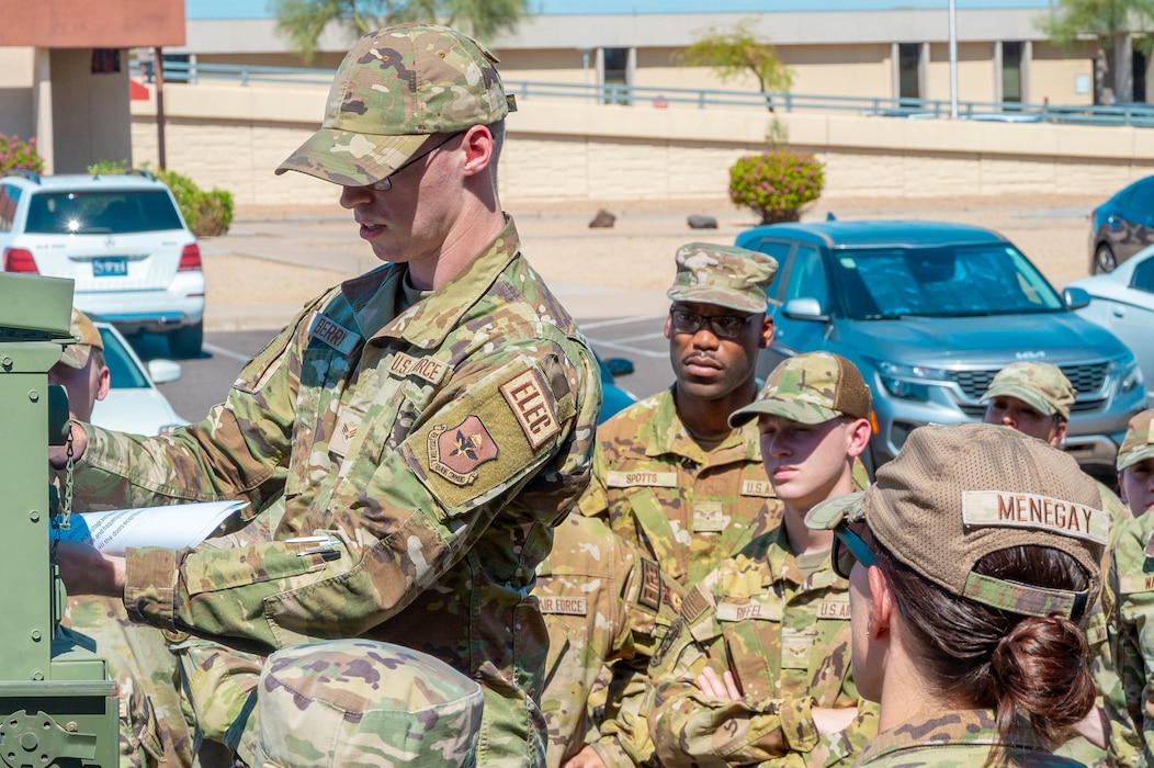
[[[181,229],[163,189],[40,192],[29,202],[27,231],[38,234],[129,234]]]

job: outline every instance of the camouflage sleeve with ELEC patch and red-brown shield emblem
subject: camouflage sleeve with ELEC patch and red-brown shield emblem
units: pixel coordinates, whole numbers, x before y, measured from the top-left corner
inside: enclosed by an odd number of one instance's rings
[[[300,525],[323,542],[129,550],[129,611],[267,648],[358,636],[435,583],[523,489],[518,509],[555,524],[587,480],[598,373],[578,344],[523,346],[456,371],[395,449],[366,439],[346,457]],[[508,398],[522,382],[539,388],[544,431]]]

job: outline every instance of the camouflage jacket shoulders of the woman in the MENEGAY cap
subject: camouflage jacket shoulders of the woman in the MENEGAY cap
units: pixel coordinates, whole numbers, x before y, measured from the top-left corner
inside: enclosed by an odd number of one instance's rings
[[[1040,746],[1021,723],[1020,736],[1004,748],[1009,765],[1018,767],[1057,768],[1081,766],[1070,758],[1051,754]],[[994,713],[972,709],[906,721],[870,739],[856,766],[883,768],[973,768],[983,766],[990,748],[1001,744]],[[1003,763],[995,763],[1003,765]]]

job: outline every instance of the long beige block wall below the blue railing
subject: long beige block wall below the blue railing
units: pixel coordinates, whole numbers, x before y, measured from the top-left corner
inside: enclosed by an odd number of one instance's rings
[[[332,204],[337,189],[273,169],[319,125],[325,89],[168,85],[170,169],[241,206]],[[151,105],[134,102],[133,155],[156,162]],[[728,167],[764,149],[769,115],[526,99],[509,118],[502,195],[518,200],[724,199]],[[1154,131],[781,114],[794,149],[826,163],[830,196],[1092,192],[1154,172]]]

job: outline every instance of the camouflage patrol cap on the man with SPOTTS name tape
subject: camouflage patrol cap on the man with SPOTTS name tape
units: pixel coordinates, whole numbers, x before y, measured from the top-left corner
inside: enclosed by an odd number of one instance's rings
[[[732,245],[689,243],[674,256],[677,275],[666,291],[674,301],[715,304],[741,312],[765,312],[765,291],[778,262],[757,251]]]

